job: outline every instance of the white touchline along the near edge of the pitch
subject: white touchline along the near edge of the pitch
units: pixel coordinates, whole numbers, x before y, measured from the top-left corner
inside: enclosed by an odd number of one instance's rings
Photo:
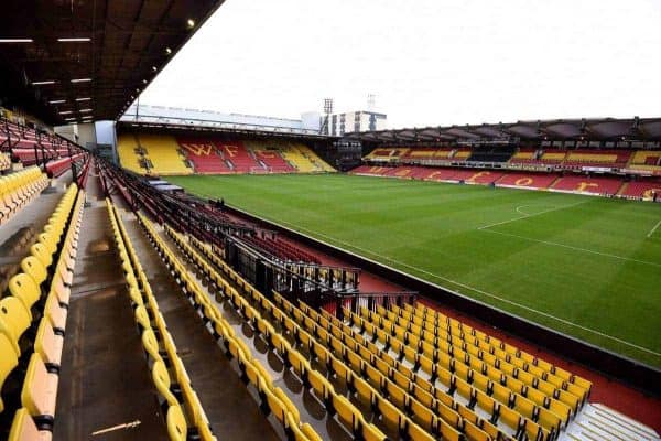
[[[582,202],[582,203],[583,203],[583,202]],[[577,204],[575,204],[575,205],[577,205]],[[264,218],[267,218],[267,217],[264,217]],[[546,312],[543,312],[543,311],[535,310],[535,309],[533,309],[533,308],[530,308],[530,306],[527,306],[527,305],[524,305],[524,304],[521,304],[521,303],[518,303],[518,302],[511,301],[511,300],[509,300],[509,299],[501,298],[501,297],[499,297],[499,295],[492,294],[492,293],[490,293],[490,292],[487,292],[487,291],[483,291],[483,290],[480,290],[479,288],[474,288],[474,287],[470,287],[470,286],[468,286],[468,284],[465,284],[465,283],[462,283],[462,282],[457,282],[456,280],[452,280],[452,279],[448,279],[448,278],[446,278],[446,277],[443,277],[443,276],[434,275],[433,272],[426,271],[426,270],[424,270],[424,269],[422,269],[422,268],[418,268],[418,267],[414,267],[414,266],[411,266],[411,265],[408,265],[408,263],[401,262],[401,261],[399,261],[399,260],[392,259],[392,258],[390,258],[390,257],[388,257],[388,256],[383,256],[383,255],[380,255],[380,254],[378,254],[378,252],[373,252],[373,251],[367,250],[367,249],[365,249],[365,248],[360,248],[360,247],[358,247],[358,246],[356,246],[356,245],[353,245],[353,244],[349,244],[349,243],[347,243],[347,241],[344,241],[344,240],[337,239],[337,238],[335,238],[335,237],[332,237],[332,236],[325,235],[325,234],[323,234],[323,233],[313,232],[313,230],[311,230],[311,229],[307,229],[307,228],[301,227],[301,226],[299,226],[299,225],[295,225],[295,224],[291,224],[291,223],[289,223],[289,222],[285,222],[285,220],[277,220],[277,219],[272,219],[272,222],[275,222],[275,223],[279,223],[279,224],[289,225],[289,226],[291,226],[291,227],[293,227],[293,228],[297,228],[297,229],[301,229],[301,230],[307,232],[307,233],[312,234],[313,236],[314,236],[314,235],[316,235],[316,236],[322,236],[322,237],[325,237],[326,239],[330,239],[330,240],[334,240],[334,241],[337,241],[337,243],[344,244],[344,245],[346,245],[346,246],[347,246],[347,247],[349,247],[349,248],[354,248],[354,249],[360,250],[360,251],[362,251],[362,252],[365,252],[365,254],[369,254],[369,255],[372,255],[372,256],[380,257],[381,259],[388,260],[388,261],[390,261],[390,262],[393,262],[393,263],[400,265],[400,266],[402,266],[402,267],[405,267],[405,268],[410,268],[410,269],[412,269],[412,270],[415,270],[415,271],[418,271],[418,272],[425,273],[425,275],[427,275],[427,276],[430,276],[430,277],[433,277],[433,278],[435,278],[435,279],[438,279],[438,280],[445,280],[445,281],[447,281],[447,282],[451,282],[451,283],[453,283],[453,284],[456,284],[457,287],[462,287],[462,288],[466,288],[466,289],[468,289],[468,290],[470,290],[470,291],[479,292],[479,293],[480,293],[480,294],[483,294],[483,295],[489,297],[489,298],[491,298],[491,299],[499,300],[499,301],[501,301],[501,302],[503,302],[503,303],[509,303],[509,304],[511,304],[511,305],[514,305],[514,306],[521,308],[521,309],[523,309],[523,310],[527,310],[527,311],[533,312],[533,313],[535,313],[535,314],[539,314],[539,315],[545,316],[545,318],[548,318],[548,319],[552,319],[552,320],[555,320],[555,321],[557,321],[557,322],[561,322],[561,323],[567,324],[567,325],[570,325],[570,326],[574,326],[574,327],[577,327],[577,329],[579,329],[579,330],[583,330],[583,331],[590,332],[590,333],[593,333],[593,334],[595,334],[595,335],[599,335],[599,336],[602,336],[602,337],[606,337],[606,338],[613,340],[613,341],[615,341],[615,342],[618,342],[618,343],[621,343],[621,344],[624,344],[624,345],[627,345],[627,346],[630,346],[630,347],[637,348],[637,349],[639,349],[639,351],[647,352],[648,354],[652,354],[652,355],[655,355],[655,356],[661,356],[661,353],[654,352],[654,351],[652,351],[652,349],[648,349],[647,347],[642,347],[642,346],[639,346],[639,345],[637,345],[637,344],[633,344],[633,343],[627,342],[627,341],[625,341],[625,340],[621,340],[621,338],[618,338],[618,337],[614,337],[613,335],[604,334],[603,332],[595,331],[595,330],[593,330],[593,329],[589,329],[589,327],[582,326],[582,325],[579,325],[579,324],[576,324],[576,323],[570,322],[568,320],[565,320],[565,319],[556,318],[555,315],[551,315],[551,314],[549,314],[549,313],[546,313]]]

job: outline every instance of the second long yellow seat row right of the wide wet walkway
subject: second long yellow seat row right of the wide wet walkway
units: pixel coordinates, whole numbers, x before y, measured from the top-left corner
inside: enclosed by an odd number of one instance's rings
[[[269,411],[273,413],[282,424],[284,431],[292,439],[296,441],[321,440],[318,434],[308,423],[301,421],[300,412],[295,405],[291,401],[284,390],[274,385],[268,370],[252,356],[252,353],[246,343],[235,334],[230,323],[223,316],[219,309],[202,290],[199,284],[188,275],[180,259],[154,230],[150,220],[140,216],[140,222],[144,227],[150,241],[165,265],[177,278],[182,291],[199,312],[204,323],[210,323],[214,336],[224,342],[226,354],[237,359],[241,374],[248,378],[249,383],[258,391],[262,400],[262,407],[269,409]],[[166,228],[169,234],[174,234],[169,227]],[[217,282],[223,283],[225,280],[218,278]],[[256,331],[258,331],[257,327]]]

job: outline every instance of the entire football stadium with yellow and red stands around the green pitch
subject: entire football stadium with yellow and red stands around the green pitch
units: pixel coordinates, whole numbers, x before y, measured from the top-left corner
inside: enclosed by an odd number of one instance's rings
[[[661,439],[661,115],[140,103],[224,3],[2,7],[0,440]]]

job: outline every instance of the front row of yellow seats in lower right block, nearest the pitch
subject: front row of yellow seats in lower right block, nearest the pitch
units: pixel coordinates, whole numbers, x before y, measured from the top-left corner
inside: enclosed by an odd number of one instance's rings
[[[517,368],[530,372],[537,377],[552,383],[556,387],[568,390],[573,395],[579,397],[582,402],[586,402],[589,398],[592,391],[592,383],[589,380],[573,375],[559,366],[554,366],[516,346],[468,326],[456,319],[444,315],[443,313],[420,303],[415,306],[405,304],[403,309],[398,309],[398,306],[393,305],[392,309],[394,313],[404,318],[408,316],[412,322],[418,321],[419,323],[423,323],[427,330],[431,329],[430,324],[435,323],[437,327],[447,326],[453,335],[459,336],[463,340],[468,341],[469,338],[466,338],[467,336],[475,337],[474,343],[476,343],[480,349],[496,354],[507,363],[516,365]]]

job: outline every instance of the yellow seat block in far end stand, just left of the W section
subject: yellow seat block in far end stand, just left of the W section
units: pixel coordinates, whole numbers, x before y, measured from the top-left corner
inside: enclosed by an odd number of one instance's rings
[[[186,159],[180,152],[174,137],[164,135],[139,135],[139,146],[145,150],[151,161],[152,174],[191,174],[193,170],[186,165]]]

